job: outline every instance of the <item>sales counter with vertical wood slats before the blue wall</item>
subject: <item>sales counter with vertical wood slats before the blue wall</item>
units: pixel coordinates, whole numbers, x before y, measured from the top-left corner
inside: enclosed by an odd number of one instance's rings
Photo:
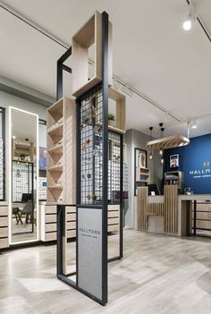
[[[136,230],[189,236],[193,233],[194,204],[195,210],[201,204],[210,208],[211,194],[178,195],[177,187],[169,185],[165,186],[165,195],[148,196],[148,187],[140,187],[134,204]]]

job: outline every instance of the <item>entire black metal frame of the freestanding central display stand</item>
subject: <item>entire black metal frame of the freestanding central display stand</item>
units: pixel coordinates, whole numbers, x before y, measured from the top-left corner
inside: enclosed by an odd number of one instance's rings
[[[103,94],[103,123],[102,123],[102,140],[103,140],[103,182],[108,182],[108,14],[102,13],[102,52],[103,52],[103,78],[100,83],[102,86]],[[72,69],[63,63],[72,55],[72,47],[70,47],[57,61],[57,87],[56,99],[63,97],[63,70],[72,73]],[[80,97],[81,98],[81,97]],[[57,278],[62,280],[65,284],[69,284],[74,289],[87,295],[89,298],[105,305],[107,302],[107,263],[117,259],[122,259],[123,255],[123,236],[122,236],[122,209],[123,209],[123,136],[121,134],[121,167],[120,167],[120,247],[119,256],[113,259],[107,259],[107,205],[108,205],[108,184],[103,184],[103,198],[102,205],[82,205],[80,204],[80,98],[76,98],[77,103],[77,195],[76,195],[76,272],[63,275],[63,236],[65,235],[65,207],[67,205],[57,205]],[[70,205],[68,205],[70,206]],[[96,296],[84,291],[78,285],[78,208],[100,208],[102,210],[102,300]],[[76,282],[69,276],[76,275]]]

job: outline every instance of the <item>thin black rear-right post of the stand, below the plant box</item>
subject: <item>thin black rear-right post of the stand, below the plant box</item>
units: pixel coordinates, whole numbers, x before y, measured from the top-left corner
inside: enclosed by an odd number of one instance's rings
[[[120,259],[123,257],[123,136],[120,135]]]

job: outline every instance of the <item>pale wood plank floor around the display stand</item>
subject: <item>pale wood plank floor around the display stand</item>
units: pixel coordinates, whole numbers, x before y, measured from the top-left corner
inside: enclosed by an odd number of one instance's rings
[[[211,240],[133,230],[124,238],[124,259],[109,266],[106,307],[56,280],[55,246],[4,252],[0,313],[211,313]]]

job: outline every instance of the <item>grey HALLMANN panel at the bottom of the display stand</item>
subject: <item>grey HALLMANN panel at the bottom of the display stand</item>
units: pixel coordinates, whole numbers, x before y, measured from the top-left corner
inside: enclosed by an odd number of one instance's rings
[[[78,208],[78,285],[102,299],[102,209]]]

